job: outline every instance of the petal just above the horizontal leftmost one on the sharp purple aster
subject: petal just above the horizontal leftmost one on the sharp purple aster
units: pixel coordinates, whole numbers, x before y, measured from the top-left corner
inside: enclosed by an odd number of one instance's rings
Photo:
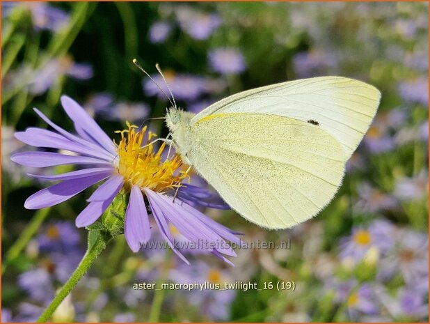
[[[101,153],[77,142],[70,141],[61,134],[51,132],[50,130],[43,130],[42,128],[27,128],[25,132],[15,132],[15,137],[19,141],[35,147],[58,148],[107,161],[113,160],[113,155]]]

